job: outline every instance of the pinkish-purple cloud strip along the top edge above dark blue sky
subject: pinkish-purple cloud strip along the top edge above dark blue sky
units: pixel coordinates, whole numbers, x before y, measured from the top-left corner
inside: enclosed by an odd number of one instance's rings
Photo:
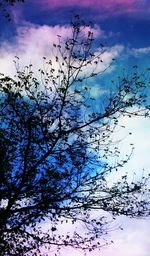
[[[100,10],[113,13],[133,13],[140,9],[140,7],[144,4],[142,0],[40,0],[39,4],[41,4],[44,8],[56,9],[61,7],[90,7],[93,9],[99,8]],[[146,2],[146,1],[145,1]]]

